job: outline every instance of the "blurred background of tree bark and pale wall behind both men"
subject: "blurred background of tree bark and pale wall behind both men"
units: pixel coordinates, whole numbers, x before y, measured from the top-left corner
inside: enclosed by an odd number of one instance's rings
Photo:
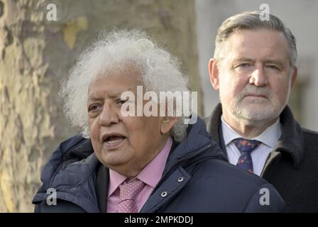
[[[318,131],[317,0],[0,0],[0,212],[32,212],[43,165],[79,133],[57,93],[99,31],[146,31],[180,60],[198,92],[199,115],[208,116],[219,101],[207,71],[217,28],[261,4],[297,38],[299,75],[289,105],[302,126]]]

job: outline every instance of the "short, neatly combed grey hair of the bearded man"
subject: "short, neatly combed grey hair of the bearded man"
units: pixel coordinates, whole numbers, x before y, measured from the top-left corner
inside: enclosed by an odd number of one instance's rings
[[[229,35],[238,29],[267,28],[280,31],[285,35],[289,47],[290,66],[295,67],[297,61],[296,38],[277,16],[270,14],[268,21],[261,21],[261,11],[246,11],[227,18],[220,26],[215,39],[214,58],[221,60],[221,51]]]

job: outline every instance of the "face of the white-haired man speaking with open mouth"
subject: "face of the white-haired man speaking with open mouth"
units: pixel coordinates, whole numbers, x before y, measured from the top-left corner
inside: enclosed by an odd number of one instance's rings
[[[134,177],[163,148],[161,117],[122,116],[121,93],[137,97],[138,74],[133,70],[99,77],[89,86],[89,131],[99,161],[116,172]],[[137,109],[137,108],[135,108]]]

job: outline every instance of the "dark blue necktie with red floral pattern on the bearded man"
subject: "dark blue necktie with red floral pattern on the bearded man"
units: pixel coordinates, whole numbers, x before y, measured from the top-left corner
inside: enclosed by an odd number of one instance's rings
[[[241,167],[244,170],[248,170],[249,172],[253,172],[251,153],[254,149],[261,145],[261,142],[258,140],[248,140],[246,138],[237,138],[233,141],[241,153],[236,166]]]

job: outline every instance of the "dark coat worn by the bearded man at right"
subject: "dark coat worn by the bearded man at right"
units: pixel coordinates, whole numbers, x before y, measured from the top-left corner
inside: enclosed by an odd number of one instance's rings
[[[221,104],[207,117],[207,131],[226,154]],[[283,197],[286,212],[318,212],[318,133],[301,128],[288,106],[280,114],[282,135],[265,162],[261,177]]]

